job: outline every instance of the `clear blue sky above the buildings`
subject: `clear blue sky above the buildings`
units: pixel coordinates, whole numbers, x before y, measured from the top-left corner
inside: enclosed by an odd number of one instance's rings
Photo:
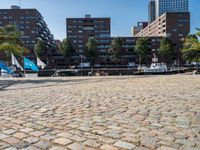
[[[20,0],[0,0],[0,8],[19,5]],[[56,39],[66,36],[67,17],[110,17],[112,36],[130,36],[131,26],[148,20],[149,0],[21,0],[22,8],[36,8]],[[200,27],[200,0],[189,0],[191,32]]]

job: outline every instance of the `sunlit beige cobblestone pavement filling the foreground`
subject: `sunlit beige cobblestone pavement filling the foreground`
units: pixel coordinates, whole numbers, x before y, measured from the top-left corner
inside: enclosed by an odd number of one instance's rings
[[[200,150],[200,76],[0,79],[2,150]]]

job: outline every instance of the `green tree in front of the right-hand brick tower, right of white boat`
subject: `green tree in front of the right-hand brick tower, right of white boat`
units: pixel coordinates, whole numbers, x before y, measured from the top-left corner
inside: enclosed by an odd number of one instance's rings
[[[159,48],[160,56],[166,62],[167,59],[172,55],[172,53],[173,53],[172,41],[167,37],[162,38],[160,41],[160,48]]]

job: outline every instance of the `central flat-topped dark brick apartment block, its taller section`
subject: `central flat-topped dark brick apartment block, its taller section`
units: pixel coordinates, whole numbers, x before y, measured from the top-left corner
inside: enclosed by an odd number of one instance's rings
[[[106,55],[110,44],[110,18],[67,18],[67,38],[71,41],[75,54],[72,63],[78,64],[83,61],[86,43],[89,38],[95,39],[98,44],[98,54],[103,57]]]

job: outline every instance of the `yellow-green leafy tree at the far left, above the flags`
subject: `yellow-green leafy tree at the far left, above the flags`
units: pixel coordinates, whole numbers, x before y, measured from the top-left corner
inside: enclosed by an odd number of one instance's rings
[[[0,52],[4,54],[5,59],[10,59],[10,54],[23,56],[28,50],[23,47],[20,39],[21,33],[11,25],[0,28]]]

